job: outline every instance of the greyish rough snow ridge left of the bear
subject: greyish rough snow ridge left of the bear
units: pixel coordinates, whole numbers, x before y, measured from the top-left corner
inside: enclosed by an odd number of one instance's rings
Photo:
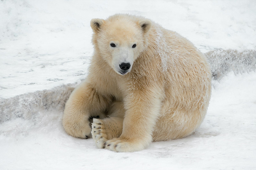
[[[60,85],[51,90],[25,93],[9,99],[1,99],[0,124],[16,118],[38,120],[41,112],[62,112],[75,84]],[[0,131],[1,133],[1,131]]]

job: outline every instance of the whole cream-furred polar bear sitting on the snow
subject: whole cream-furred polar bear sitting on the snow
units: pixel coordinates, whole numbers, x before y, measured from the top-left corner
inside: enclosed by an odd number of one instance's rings
[[[92,19],[91,27],[94,55],[88,77],[66,103],[67,133],[92,135],[99,148],[115,152],[193,133],[211,96],[205,56],[186,38],[143,17],[116,14]]]

